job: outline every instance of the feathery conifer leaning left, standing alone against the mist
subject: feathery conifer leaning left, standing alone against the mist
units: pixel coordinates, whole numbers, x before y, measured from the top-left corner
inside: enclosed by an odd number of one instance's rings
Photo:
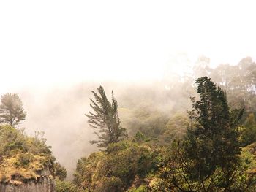
[[[91,91],[94,94],[95,101],[91,100],[91,108],[93,112],[89,112],[86,117],[89,118],[89,125],[97,129],[94,134],[97,135],[98,140],[91,141],[91,144],[97,144],[99,148],[108,147],[110,143],[115,143],[127,137],[126,129],[120,126],[120,119],[118,118],[118,104],[113,96],[112,101],[108,101],[105,91],[100,86],[99,94]]]

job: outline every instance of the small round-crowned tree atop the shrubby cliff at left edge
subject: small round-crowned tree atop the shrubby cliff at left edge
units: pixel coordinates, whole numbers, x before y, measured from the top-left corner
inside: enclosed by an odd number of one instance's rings
[[[1,96],[0,120],[10,126],[17,126],[21,120],[25,120],[26,112],[18,94],[6,93]]]

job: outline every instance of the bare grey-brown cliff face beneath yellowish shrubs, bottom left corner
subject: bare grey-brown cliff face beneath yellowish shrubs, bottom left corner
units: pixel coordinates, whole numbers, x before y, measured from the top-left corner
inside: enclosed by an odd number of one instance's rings
[[[54,180],[52,177],[40,177],[37,182],[29,181],[22,185],[0,183],[1,192],[54,192]]]

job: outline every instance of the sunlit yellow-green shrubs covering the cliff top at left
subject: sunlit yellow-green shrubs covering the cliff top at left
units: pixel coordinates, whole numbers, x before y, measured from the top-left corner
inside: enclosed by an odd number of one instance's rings
[[[0,182],[22,184],[41,174],[53,175],[53,157],[45,139],[27,137],[12,126],[0,126]]]

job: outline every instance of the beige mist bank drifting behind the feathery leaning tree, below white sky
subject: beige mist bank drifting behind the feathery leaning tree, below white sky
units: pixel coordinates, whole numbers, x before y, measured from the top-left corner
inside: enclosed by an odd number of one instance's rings
[[[253,63],[252,58],[244,58],[242,62]],[[199,56],[196,61],[192,61],[186,53],[179,53],[159,69],[162,76],[157,79],[117,78],[52,85],[47,83],[37,87],[23,85],[9,88],[7,92],[18,93],[27,112],[26,120],[20,124],[20,128],[25,128],[26,134],[30,136],[34,136],[35,131],[43,131],[56,161],[67,169],[67,179],[72,180],[78,159],[98,150],[96,145],[89,143],[97,137],[85,116],[91,110],[91,91],[97,91],[99,85],[102,85],[109,99],[111,91],[114,91],[121,126],[127,128],[129,137],[140,131],[133,126],[139,129],[148,126],[150,135],[153,129],[161,131],[174,114],[186,115],[191,108],[190,96],[197,95],[191,86],[195,79],[208,75],[208,69],[219,70],[219,66],[223,64],[211,64],[211,59],[206,56]],[[152,122],[159,123],[151,125]]]

